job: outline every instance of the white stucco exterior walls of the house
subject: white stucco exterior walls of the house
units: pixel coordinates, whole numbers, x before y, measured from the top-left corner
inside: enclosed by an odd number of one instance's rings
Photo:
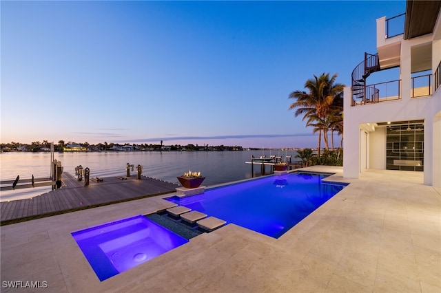
[[[344,177],[358,178],[365,166],[363,160],[368,160],[367,168],[386,169],[384,129],[376,128],[376,122],[424,120],[424,184],[441,186],[441,87],[432,96],[411,98],[412,47],[432,44],[431,70],[434,74],[441,60],[440,19],[438,17],[433,34],[400,40],[401,100],[351,107],[351,87],[345,87]],[[384,20],[377,21],[377,32],[381,34],[377,36],[377,43],[380,44],[384,43]],[[361,138],[362,130],[369,132],[367,144],[365,138]]]

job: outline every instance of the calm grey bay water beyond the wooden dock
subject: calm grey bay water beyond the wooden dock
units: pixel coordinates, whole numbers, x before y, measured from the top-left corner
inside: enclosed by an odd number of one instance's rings
[[[75,175],[76,166],[90,169],[90,177],[112,177],[127,175],[127,163],[134,165],[131,175],[136,175],[136,166],[143,166],[142,175],[178,184],[176,177],[191,170],[201,172],[205,177],[203,185],[212,186],[253,177],[251,156],[280,155],[283,160],[296,151],[252,150],[252,151],[127,151],[127,152],[66,152],[54,153],[54,159],[61,161],[63,173]],[[6,152],[0,153],[0,180],[50,177],[51,155],[48,152]],[[267,166],[267,173],[270,168]],[[254,177],[260,175],[260,166],[254,165]],[[1,191],[0,202],[25,199],[51,191],[51,187],[21,188]]]

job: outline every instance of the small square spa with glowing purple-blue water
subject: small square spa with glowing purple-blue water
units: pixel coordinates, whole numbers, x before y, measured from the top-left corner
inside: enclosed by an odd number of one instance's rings
[[[72,232],[72,237],[100,281],[188,242],[142,215]]]

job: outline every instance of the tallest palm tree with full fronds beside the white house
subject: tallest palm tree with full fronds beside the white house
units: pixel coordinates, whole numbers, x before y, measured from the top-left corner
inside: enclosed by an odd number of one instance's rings
[[[296,117],[303,115],[302,120],[308,119],[307,126],[316,127],[314,133],[318,131],[318,158],[320,158],[322,131],[325,129],[312,122],[318,120],[322,123],[329,113],[341,108],[341,101],[338,97],[345,85],[336,83],[337,76],[338,74],[334,74],[329,78],[329,73],[322,73],[318,77],[314,75],[314,78],[310,78],[305,83],[305,89],[309,92],[296,90],[288,96],[288,98],[296,99],[296,102],[289,105],[289,110],[296,108],[294,115]],[[327,137],[325,142],[327,142]]]

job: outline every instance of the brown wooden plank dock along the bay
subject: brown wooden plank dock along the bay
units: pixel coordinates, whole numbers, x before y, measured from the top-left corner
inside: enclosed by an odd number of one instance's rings
[[[124,180],[120,179],[124,178]],[[178,184],[151,177],[103,177],[102,182],[90,180],[88,186],[72,175],[63,173],[61,188],[30,199],[0,202],[0,224],[19,219],[32,219],[43,215],[55,215],[69,210],[90,208],[125,200],[149,197],[176,191]]]

